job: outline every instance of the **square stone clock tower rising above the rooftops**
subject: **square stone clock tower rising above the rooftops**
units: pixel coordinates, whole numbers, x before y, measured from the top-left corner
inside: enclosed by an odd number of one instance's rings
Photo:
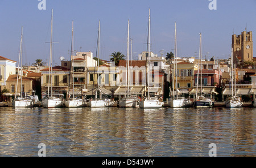
[[[253,32],[243,31],[241,35],[232,35],[232,48],[234,63],[253,61]]]

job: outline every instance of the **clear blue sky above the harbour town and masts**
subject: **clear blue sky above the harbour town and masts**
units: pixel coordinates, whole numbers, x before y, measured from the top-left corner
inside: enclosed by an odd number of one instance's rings
[[[114,51],[126,55],[127,23],[133,38],[133,58],[147,49],[148,9],[151,10],[151,51],[158,56],[174,52],[177,24],[177,56],[198,57],[202,33],[203,57],[228,58],[232,35],[256,32],[256,0],[0,0],[0,55],[18,62],[23,27],[23,65],[35,59],[49,62],[51,9],[53,8],[53,59],[70,60],[72,21],[74,49],[96,56],[98,21],[101,21],[100,59],[110,60]],[[255,44],[254,44],[255,46]],[[255,51],[254,51],[255,53]]]

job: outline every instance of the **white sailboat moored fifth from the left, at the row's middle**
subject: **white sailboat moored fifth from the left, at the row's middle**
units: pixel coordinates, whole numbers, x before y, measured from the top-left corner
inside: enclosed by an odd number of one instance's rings
[[[129,40],[130,40],[130,20],[128,20],[128,34],[127,34],[127,55],[126,55],[126,83],[125,83],[125,97],[119,101],[119,107],[137,107],[137,97],[131,96],[129,91]]]

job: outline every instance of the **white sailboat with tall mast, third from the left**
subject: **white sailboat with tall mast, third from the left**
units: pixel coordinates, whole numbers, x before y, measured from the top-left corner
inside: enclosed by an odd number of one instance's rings
[[[72,60],[72,97],[70,96],[70,93],[68,92],[68,98],[67,100],[64,102],[66,107],[72,108],[72,107],[85,107],[86,106],[86,101],[82,100],[81,98],[75,98],[75,87],[74,87],[74,58],[72,58],[72,56],[74,55],[74,21],[72,21],[72,42],[71,42],[71,60]],[[69,71],[71,72],[71,71]],[[70,73],[71,76],[71,73]],[[69,76],[69,79],[71,79],[71,77]],[[69,88],[70,88],[70,83],[71,80],[69,80]]]

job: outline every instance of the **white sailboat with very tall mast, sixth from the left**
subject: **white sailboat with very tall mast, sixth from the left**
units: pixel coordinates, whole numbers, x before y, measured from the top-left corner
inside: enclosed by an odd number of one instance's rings
[[[149,85],[149,75],[150,75],[150,8],[149,8],[149,16],[148,16],[148,46],[147,46],[147,57],[146,61],[147,64],[147,98],[139,102],[139,107],[142,109],[148,109],[148,108],[161,108],[163,106],[163,102],[159,100],[157,97],[150,97],[150,85]]]

